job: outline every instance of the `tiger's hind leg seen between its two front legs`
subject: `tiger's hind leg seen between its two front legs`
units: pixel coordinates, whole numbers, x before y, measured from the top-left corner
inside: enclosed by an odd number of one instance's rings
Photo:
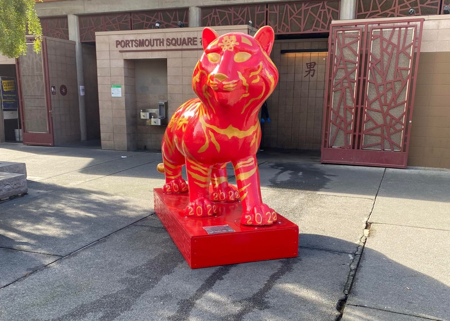
[[[211,172],[212,193],[211,200],[214,202],[234,202],[239,199],[239,193],[228,185],[226,163],[216,164]]]

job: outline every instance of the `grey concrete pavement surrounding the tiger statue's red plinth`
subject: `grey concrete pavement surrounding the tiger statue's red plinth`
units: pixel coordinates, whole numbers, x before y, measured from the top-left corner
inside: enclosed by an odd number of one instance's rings
[[[298,257],[191,270],[153,214],[161,159],[0,144],[29,180],[0,204],[0,320],[450,320],[450,172],[258,155]]]

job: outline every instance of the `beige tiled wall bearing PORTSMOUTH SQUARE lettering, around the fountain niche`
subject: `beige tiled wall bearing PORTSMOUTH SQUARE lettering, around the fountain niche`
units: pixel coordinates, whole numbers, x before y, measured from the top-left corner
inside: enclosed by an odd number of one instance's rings
[[[147,59],[165,59],[170,118],[181,104],[196,97],[191,87],[191,79],[193,68],[202,54],[199,41],[202,29],[202,27],[198,27],[189,28],[189,31],[183,31],[182,29],[163,29],[160,31],[155,29],[96,33],[102,149],[132,150],[144,148],[144,146],[147,149],[160,148],[162,135],[166,127],[145,125],[140,120],[139,110],[143,107],[148,108],[148,106],[142,100],[143,97],[139,96],[139,89],[136,91],[135,66]],[[232,30],[249,32],[247,26],[216,27],[215,30],[219,34]],[[194,46],[181,46],[181,50],[166,50],[174,48],[167,47],[165,41],[164,45],[158,48],[161,51],[130,51],[132,48],[116,47],[117,40],[171,39],[174,37],[197,37],[198,42]],[[123,50],[123,52],[120,50]],[[111,97],[111,85],[122,86],[122,97]],[[164,90],[162,90],[161,95],[164,95]]]

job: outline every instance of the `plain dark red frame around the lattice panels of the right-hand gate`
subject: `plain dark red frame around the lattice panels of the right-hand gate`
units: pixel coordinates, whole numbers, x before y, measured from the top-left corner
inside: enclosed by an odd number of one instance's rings
[[[322,163],[336,163],[336,164],[350,164],[350,165],[365,165],[365,166],[378,166],[378,167],[397,167],[406,168],[409,151],[410,131],[412,114],[414,107],[414,93],[416,86],[417,70],[419,67],[419,53],[420,42],[422,40],[423,30],[423,18],[403,18],[403,19],[390,19],[390,20],[376,20],[376,19],[364,19],[360,22],[348,22],[344,21],[333,23],[330,27],[329,34],[329,56],[326,69],[327,84],[325,86],[325,102],[323,113],[323,130],[322,130],[322,145],[321,145],[321,157]],[[411,64],[414,66],[411,68],[410,77],[410,89],[406,96],[405,103],[405,122],[404,122],[404,134],[403,134],[403,150],[401,151],[386,151],[386,150],[369,150],[362,149],[362,137],[363,137],[363,120],[362,116],[365,113],[366,103],[366,83],[368,80],[369,71],[369,53],[370,53],[370,40],[371,30],[373,28],[398,28],[405,26],[414,26],[416,28],[413,57]],[[334,80],[333,65],[335,58],[335,34],[339,30],[360,30],[360,52],[359,52],[359,66],[357,70],[356,86],[355,86],[355,99],[353,105],[353,127],[351,132],[351,144],[342,147],[330,147],[330,122],[331,122],[331,95],[332,95],[332,82]],[[333,62],[333,63],[332,63]]]

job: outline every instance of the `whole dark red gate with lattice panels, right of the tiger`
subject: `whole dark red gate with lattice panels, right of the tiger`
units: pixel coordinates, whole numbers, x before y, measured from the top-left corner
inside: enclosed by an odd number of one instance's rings
[[[406,168],[423,21],[423,18],[388,21],[370,19],[352,23],[343,21],[331,25],[326,71],[328,83],[325,86],[323,115],[322,163]],[[387,26],[387,23],[390,25]],[[409,72],[407,77],[396,80],[399,84],[403,81],[402,86],[408,90],[402,101],[405,109],[397,117],[391,114],[391,106],[384,106],[387,108],[384,111],[381,104],[379,110],[373,108],[376,99],[387,100],[386,91],[389,88],[387,83],[393,84],[392,80],[384,79],[377,82],[374,79],[377,61],[372,51],[372,49],[376,50],[376,46],[372,47],[372,45],[377,39],[375,31],[380,30],[381,35],[382,30],[386,28],[392,29],[392,34],[398,28],[399,35],[403,29],[405,32],[414,30],[414,41],[410,45],[413,46],[410,66],[409,68],[396,66],[396,72]],[[344,34],[351,38],[343,41]],[[402,41],[405,40],[405,35]],[[383,39],[381,36],[379,38],[381,43]],[[398,39],[400,41],[401,37],[399,36]],[[344,57],[344,49],[347,57]],[[400,52],[407,54],[407,50]],[[386,51],[383,54],[386,54]],[[389,57],[389,62],[393,59],[392,56]],[[383,66],[382,68],[385,67],[383,62],[378,61],[378,66],[380,65]],[[375,73],[378,73],[378,70]],[[369,92],[370,86],[372,90]],[[385,89],[383,93],[375,95],[375,99],[374,86],[378,86],[377,90],[379,86],[384,86]],[[371,95],[370,98],[368,94]],[[398,114],[398,109],[396,113]],[[378,119],[383,119],[383,122],[377,123],[373,119],[374,115],[379,117]],[[387,131],[386,135],[384,135],[385,131]],[[367,140],[372,139],[375,142],[367,143],[365,135],[368,137]],[[393,135],[396,135],[395,141],[391,139]],[[338,141],[337,137],[339,137]]]

